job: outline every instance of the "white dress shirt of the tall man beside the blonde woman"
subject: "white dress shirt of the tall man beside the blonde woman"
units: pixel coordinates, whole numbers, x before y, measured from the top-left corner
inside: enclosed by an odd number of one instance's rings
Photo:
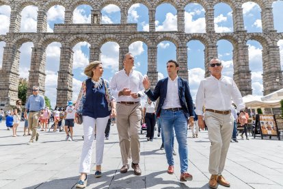
[[[142,73],[139,71],[132,70],[131,73],[126,75],[126,71],[122,69],[121,71],[116,72],[110,82],[111,92],[113,96],[117,99],[117,102],[120,101],[135,101],[139,102],[140,98],[134,99],[131,96],[121,95],[118,97],[119,91],[124,88],[129,88],[131,92],[138,92],[139,95],[144,96],[144,85],[142,80],[144,79]]]

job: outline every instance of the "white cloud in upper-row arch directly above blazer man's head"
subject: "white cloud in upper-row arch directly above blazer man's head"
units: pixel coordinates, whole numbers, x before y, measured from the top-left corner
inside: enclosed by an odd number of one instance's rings
[[[162,25],[159,25],[159,21],[155,21],[156,31],[177,31],[177,15],[168,12],[165,17],[165,21]]]

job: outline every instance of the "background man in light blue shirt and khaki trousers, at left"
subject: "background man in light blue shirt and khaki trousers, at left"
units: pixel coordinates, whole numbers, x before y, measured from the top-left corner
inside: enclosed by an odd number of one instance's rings
[[[29,110],[28,122],[29,129],[31,129],[32,131],[31,139],[29,140],[28,144],[32,144],[34,139],[38,141],[38,119],[40,118],[40,113],[45,108],[44,97],[42,95],[39,95],[38,92],[38,86],[33,86],[32,95],[29,96],[27,103],[25,103],[25,118],[27,118],[27,111]]]

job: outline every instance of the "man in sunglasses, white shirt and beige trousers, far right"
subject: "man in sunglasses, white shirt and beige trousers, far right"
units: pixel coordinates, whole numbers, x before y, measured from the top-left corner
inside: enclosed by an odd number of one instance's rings
[[[245,108],[243,99],[233,79],[221,75],[221,61],[213,58],[209,64],[211,77],[200,82],[196,95],[196,114],[198,125],[204,129],[204,121],[208,127],[208,138],[211,141],[208,171],[211,179],[208,184],[217,188],[217,182],[222,186],[230,187],[230,183],[221,175],[224,170],[226,155],[230,145],[234,118],[231,114],[232,100],[237,110]],[[231,100],[232,98],[232,100]],[[203,107],[205,108],[204,120]]]

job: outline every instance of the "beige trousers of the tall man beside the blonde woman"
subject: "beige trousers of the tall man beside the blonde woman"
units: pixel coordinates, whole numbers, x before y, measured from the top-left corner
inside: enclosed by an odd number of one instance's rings
[[[142,111],[141,104],[117,103],[117,129],[120,140],[122,164],[129,164],[132,158],[134,164],[139,163],[139,128],[141,127]]]

